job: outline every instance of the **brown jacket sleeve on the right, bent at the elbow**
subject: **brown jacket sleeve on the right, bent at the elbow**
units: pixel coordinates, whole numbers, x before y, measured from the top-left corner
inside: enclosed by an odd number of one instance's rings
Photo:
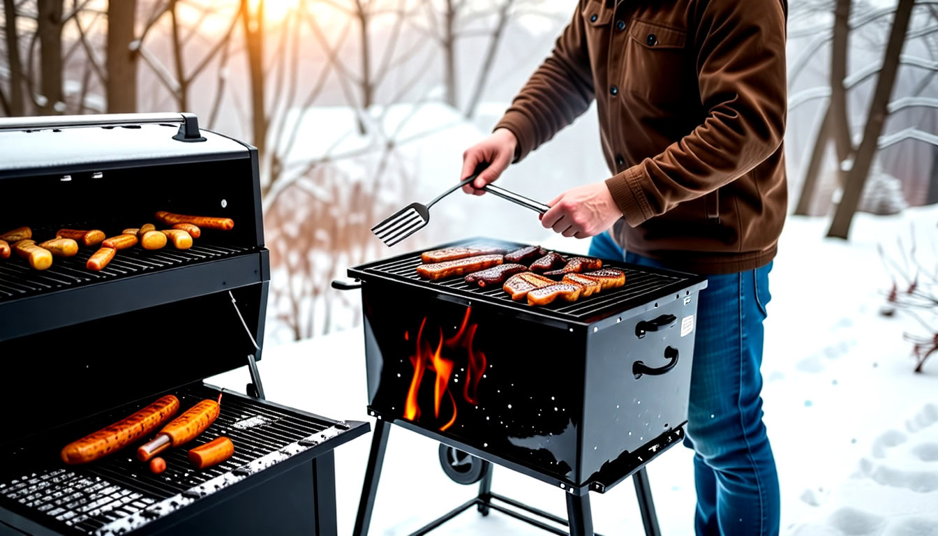
[[[785,0],[711,0],[696,28],[703,124],[606,180],[635,227],[718,190],[771,156],[785,131]]]

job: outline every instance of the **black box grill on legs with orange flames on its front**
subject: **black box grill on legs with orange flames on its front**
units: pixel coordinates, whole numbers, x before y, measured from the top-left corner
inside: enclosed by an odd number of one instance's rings
[[[428,249],[474,243],[526,245],[474,238]],[[362,290],[368,407],[377,418],[356,536],[368,533],[391,423],[440,441],[453,480],[480,482],[477,498],[414,534],[477,506],[591,536],[588,492],[629,476],[646,533],[659,534],[643,467],[684,436],[706,280],[605,261],[625,270],[624,287],[531,307],[501,285],[423,280],[420,262],[419,252],[407,253],[350,268],[360,283],[335,283]],[[568,519],[492,493],[490,462],[562,489]]]

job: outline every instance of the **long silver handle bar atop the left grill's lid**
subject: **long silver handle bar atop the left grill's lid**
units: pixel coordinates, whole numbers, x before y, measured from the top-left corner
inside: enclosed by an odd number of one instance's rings
[[[173,136],[180,142],[204,142],[199,131],[199,118],[187,112],[152,114],[40,115],[38,117],[5,117],[0,130],[68,129],[72,127],[109,127],[141,123],[181,123]]]

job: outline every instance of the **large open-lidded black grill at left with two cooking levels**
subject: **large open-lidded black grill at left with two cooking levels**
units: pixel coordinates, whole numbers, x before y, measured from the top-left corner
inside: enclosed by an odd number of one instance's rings
[[[265,400],[256,360],[270,279],[257,151],[180,114],[0,120],[0,229],[38,240],[62,227],[108,236],[154,212],[224,216],[186,251],[171,245],[93,253],[36,271],[0,260],[0,534],[336,534],[333,449],[369,425]],[[204,378],[249,365],[248,395],[225,391],[221,414],[151,474],[136,445],[67,466],[68,442],[163,394],[180,412],[219,388]],[[234,456],[204,470],[189,447],[228,436]]]

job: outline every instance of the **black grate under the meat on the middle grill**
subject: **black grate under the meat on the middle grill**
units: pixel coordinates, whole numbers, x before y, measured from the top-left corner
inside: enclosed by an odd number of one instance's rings
[[[484,242],[471,240],[456,244],[446,244],[432,249],[473,245],[474,243],[504,245],[508,249],[517,249],[527,245],[502,242],[499,240],[486,240]],[[567,256],[567,253],[563,254]],[[582,321],[586,318],[593,318],[603,314],[612,314],[615,310],[630,308],[637,305],[637,301],[658,299],[659,297],[670,294],[672,291],[676,292],[675,289],[677,288],[684,288],[692,283],[697,283],[696,281],[691,281],[689,278],[682,277],[684,274],[680,272],[640,268],[621,262],[603,261],[604,268],[620,268],[626,272],[625,286],[613,290],[605,290],[589,298],[581,298],[573,303],[558,300],[550,305],[535,308],[529,306],[527,302],[513,301],[511,297],[502,290],[501,285],[495,285],[489,288],[479,287],[475,284],[466,283],[461,276],[446,278],[439,281],[423,279],[416,273],[416,267],[421,263],[420,253],[408,253],[352,268],[349,270],[349,273],[353,277],[364,276],[366,279],[367,274],[379,274],[393,280],[406,281],[422,286],[430,286],[441,291],[453,292],[470,299],[485,299],[492,303],[519,308],[526,312],[548,314],[558,319],[574,321]],[[624,305],[626,305],[626,307],[623,307]]]

